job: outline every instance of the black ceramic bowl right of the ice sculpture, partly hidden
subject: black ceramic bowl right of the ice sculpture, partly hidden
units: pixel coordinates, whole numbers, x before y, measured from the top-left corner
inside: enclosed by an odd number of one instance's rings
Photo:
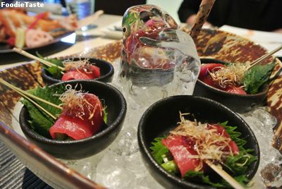
[[[201,59],[201,63],[226,63],[216,59]],[[223,90],[216,89],[201,80],[197,80],[193,95],[214,99],[238,113],[250,111],[255,106],[265,103],[268,85],[264,85],[257,94],[232,94]]]

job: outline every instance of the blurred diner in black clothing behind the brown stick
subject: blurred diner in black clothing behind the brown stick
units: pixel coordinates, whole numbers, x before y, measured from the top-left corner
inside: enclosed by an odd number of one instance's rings
[[[192,25],[200,3],[201,0],[184,0],[178,10],[180,21]],[[207,25],[282,32],[281,7],[281,0],[216,0]]]

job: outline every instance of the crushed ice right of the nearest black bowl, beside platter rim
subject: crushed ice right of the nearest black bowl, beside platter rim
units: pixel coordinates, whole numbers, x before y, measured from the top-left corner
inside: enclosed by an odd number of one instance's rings
[[[254,178],[255,184],[253,188],[265,188],[264,183],[268,187],[282,187],[282,155],[271,146],[272,138],[274,137],[273,128],[277,123],[276,118],[271,116],[265,107],[260,107],[241,116],[252,128],[259,142],[259,169]],[[271,165],[276,166],[280,171],[274,173],[274,171],[271,171]],[[274,179],[269,179],[271,177],[274,177]]]

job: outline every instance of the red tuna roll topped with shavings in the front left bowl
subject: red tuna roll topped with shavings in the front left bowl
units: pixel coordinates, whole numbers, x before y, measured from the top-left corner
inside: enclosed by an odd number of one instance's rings
[[[68,90],[61,95],[63,111],[51,126],[51,138],[67,135],[75,140],[89,138],[99,131],[104,120],[104,111],[99,98],[90,93]]]

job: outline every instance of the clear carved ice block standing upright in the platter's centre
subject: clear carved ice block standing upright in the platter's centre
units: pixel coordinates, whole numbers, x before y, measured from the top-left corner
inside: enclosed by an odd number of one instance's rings
[[[140,5],[123,16],[119,79],[125,95],[139,105],[192,94],[200,71],[195,44],[161,8]]]

